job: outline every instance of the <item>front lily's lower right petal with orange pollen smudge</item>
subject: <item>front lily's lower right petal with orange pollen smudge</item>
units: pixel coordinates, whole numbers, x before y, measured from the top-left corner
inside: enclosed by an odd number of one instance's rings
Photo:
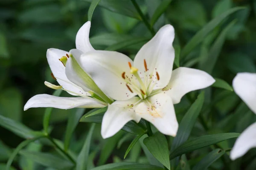
[[[151,122],[161,133],[176,136],[178,122],[172,99],[162,92],[148,98],[148,101],[153,107],[144,101],[138,104],[135,109],[136,113]]]

